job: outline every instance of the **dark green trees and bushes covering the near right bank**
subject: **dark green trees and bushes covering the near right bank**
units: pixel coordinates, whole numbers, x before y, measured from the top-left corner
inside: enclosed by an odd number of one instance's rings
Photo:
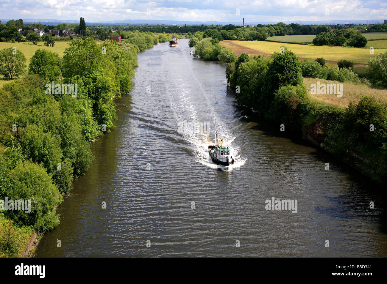
[[[372,58],[371,82],[387,87],[387,52]],[[344,64],[344,63],[343,63]],[[226,78],[235,89],[236,100],[263,117],[296,133],[307,133],[318,145],[349,162],[377,182],[387,181],[387,109],[374,97],[363,97],[346,109],[308,96],[302,76],[352,80],[351,68],[332,68],[325,60],[301,63],[295,54],[249,57],[242,53],[226,67]],[[335,77],[336,76],[336,77]],[[370,131],[370,124],[373,131]]]

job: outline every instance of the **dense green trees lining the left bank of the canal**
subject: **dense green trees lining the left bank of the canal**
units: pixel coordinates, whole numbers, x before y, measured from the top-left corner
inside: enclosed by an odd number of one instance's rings
[[[138,50],[132,43],[76,38],[63,58],[36,50],[28,74],[0,89],[0,199],[31,200],[29,214],[4,211],[17,226],[42,232],[57,226],[54,207],[89,168],[90,142],[104,126],[114,127],[113,99],[131,90]],[[9,60],[24,58],[20,51],[0,52]],[[77,84],[76,96],[63,87],[48,90],[52,82]]]

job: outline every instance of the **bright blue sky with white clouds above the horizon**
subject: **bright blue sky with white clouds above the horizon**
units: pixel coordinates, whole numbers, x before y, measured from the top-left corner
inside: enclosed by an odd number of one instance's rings
[[[104,22],[125,19],[289,22],[387,19],[387,1],[368,0],[0,0],[0,19]]]

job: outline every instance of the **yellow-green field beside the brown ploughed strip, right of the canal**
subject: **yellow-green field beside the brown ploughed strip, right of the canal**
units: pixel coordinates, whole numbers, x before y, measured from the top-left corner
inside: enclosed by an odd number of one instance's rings
[[[339,61],[342,59],[351,60],[354,63],[367,64],[368,60],[379,53],[384,53],[387,49],[375,49],[374,54],[366,48],[344,48],[341,46],[313,46],[291,43],[273,43],[269,41],[221,41],[221,44],[230,47],[231,44],[237,44],[241,47],[250,48],[250,54],[254,51],[258,53],[272,54],[280,52],[281,46],[288,47],[298,58],[314,59],[323,57],[327,61]]]

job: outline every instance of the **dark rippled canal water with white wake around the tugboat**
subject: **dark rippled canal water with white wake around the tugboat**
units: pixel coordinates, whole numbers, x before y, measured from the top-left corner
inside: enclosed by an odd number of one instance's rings
[[[132,92],[116,101],[117,127],[92,145],[96,159],[38,257],[387,256],[380,189],[249,119],[227,93],[224,64],[192,58],[187,39],[138,58]],[[185,121],[208,133],[182,132]],[[209,159],[215,130],[232,167]],[[272,197],[297,199],[298,212],[265,210]]]

